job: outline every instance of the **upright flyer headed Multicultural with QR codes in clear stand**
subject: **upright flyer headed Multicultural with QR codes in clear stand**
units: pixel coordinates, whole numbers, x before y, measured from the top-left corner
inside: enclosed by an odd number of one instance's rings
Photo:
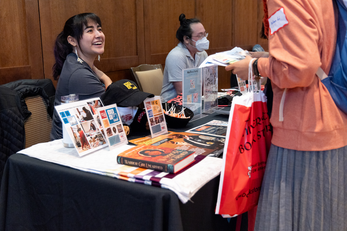
[[[183,106],[194,113],[194,117],[201,115],[202,80],[201,68],[188,68],[182,70],[182,98]]]

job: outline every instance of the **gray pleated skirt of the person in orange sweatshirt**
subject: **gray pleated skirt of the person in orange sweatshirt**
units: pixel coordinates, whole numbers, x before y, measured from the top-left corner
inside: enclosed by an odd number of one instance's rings
[[[271,145],[256,231],[347,230],[347,146],[295,151]]]

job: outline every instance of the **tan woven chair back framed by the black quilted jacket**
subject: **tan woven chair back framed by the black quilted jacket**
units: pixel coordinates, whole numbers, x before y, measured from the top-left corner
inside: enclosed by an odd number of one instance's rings
[[[40,95],[25,97],[31,116],[24,122],[25,148],[34,144],[49,142],[52,118],[47,113],[47,103]]]

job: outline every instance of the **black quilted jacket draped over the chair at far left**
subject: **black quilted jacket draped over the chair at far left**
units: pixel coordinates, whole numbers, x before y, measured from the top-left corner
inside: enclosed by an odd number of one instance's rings
[[[31,116],[25,97],[42,96],[52,117],[55,94],[50,79],[23,79],[0,85],[0,179],[8,157],[25,148],[24,122]]]

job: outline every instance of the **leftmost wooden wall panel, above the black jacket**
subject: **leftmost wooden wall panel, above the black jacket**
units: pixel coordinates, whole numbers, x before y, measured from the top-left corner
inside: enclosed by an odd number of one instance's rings
[[[0,84],[43,78],[37,1],[0,1],[0,22]]]

